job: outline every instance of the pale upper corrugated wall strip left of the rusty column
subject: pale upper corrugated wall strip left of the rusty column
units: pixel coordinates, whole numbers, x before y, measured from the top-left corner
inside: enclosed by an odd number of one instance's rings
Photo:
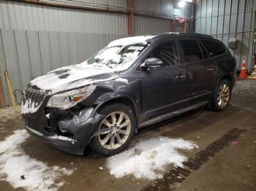
[[[7,30],[127,35],[127,22],[127,15],[0,2],[0,28]]]

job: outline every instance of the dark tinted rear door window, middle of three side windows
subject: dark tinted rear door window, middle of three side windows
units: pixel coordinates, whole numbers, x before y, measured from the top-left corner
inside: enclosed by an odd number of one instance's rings
[[[186,62],[195,62],[203,59],[202,51],[195,40],[181,40]]]

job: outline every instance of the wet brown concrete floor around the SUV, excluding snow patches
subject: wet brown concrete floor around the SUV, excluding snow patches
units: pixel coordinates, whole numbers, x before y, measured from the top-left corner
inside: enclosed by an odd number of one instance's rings
[[[0,143],[16,129],[23,129],[18,110],[0,110]],[[246,128],[237,144],[230,144],[199,170],[181,183],[176,190],[256,190],[256,81],[237,82],[231,104],[224,112],[197,109],[172,120],[139,130],[132,145],[142,139],[167,136],[195,141],[197,149],[184,152],[187,157],[219,139],[233,128]],[[116,179],[105,167],[107,157],[89,151],[85,156],[70,155],[48,146],[34,137],[27,139],[22,149],[29,157],[48,166],[75,169],[73,174],[61,176],[65,182],[59,190],[140,190],[151,180],[124,176]],[[183,152],[183,151],[181,151]],[[0,153],[1,155],[1,153]],[[247,167],[246,167],[247,166]],[[103,169],[100,169],[100,168]],[[170,169],[171,165],[166,167]],[[1,168],[1,166],[0,166]],[[4,175],[0,173],[0,179]],[[0,190],[14,190],[9,182],[0,181]],[[17,190],[23,190],[22,187]]]

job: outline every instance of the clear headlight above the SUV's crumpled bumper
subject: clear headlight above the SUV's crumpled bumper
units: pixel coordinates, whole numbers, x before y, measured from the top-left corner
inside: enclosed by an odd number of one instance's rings
[[[47,106],[59,109],[69,109],[91,95],[95,88],[96,85],[89,85],[76,90],[58,93],[50,97]]]

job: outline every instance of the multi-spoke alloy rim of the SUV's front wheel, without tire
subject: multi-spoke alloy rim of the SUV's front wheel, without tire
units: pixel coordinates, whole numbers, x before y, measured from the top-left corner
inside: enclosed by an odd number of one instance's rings
[[[99,128],[99,143],[105,149],[117,149],[128,139],[131,132],[131,122],[124,112],[108,114]]]

